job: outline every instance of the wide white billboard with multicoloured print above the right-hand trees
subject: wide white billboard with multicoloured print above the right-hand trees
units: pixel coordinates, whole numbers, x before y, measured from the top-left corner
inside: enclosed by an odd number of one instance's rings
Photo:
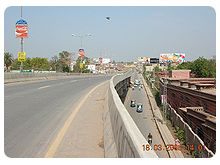
[[[160,63],[183,63],[185,62],[184,53],[163,53],[160,54]]]

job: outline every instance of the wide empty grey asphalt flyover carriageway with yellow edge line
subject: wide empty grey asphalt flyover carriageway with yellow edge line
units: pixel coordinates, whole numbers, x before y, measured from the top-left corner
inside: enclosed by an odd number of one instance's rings
[[[71,111],[111,76],[72,77],[4,86],[4,150],[8,157],[44,157]],[[83,123],[79,123],[83,124]]]

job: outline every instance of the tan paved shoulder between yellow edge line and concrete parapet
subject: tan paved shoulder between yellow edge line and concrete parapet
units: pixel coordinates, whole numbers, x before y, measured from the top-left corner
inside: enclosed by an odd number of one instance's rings
[[[88,95],[53,157],[104,157],[102,116],[108,83]]]

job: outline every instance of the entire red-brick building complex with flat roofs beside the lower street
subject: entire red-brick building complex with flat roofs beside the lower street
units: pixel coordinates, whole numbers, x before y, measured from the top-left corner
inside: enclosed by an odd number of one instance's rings
[[[204,141],[207,147],[210,147],[215,152],[215,79],[161,78],[161,97],[164,97],[164,81],[167,81],[167,103],[192,127],[193,131]]]

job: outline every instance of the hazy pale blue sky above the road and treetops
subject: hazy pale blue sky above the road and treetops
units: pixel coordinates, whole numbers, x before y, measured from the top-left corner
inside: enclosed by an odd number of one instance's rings
[[[186,60],[216,55],[216,15],[210,7],[23,7],[23,18],[29,25],[27,57],[78,51],[80,39],[73,33],[92,34],[83,39],[88,57],[132,61],[170,52],[186,53]],[[14,56],[20,51],[19,19],[20,7],[6,9],[5,51]]]

